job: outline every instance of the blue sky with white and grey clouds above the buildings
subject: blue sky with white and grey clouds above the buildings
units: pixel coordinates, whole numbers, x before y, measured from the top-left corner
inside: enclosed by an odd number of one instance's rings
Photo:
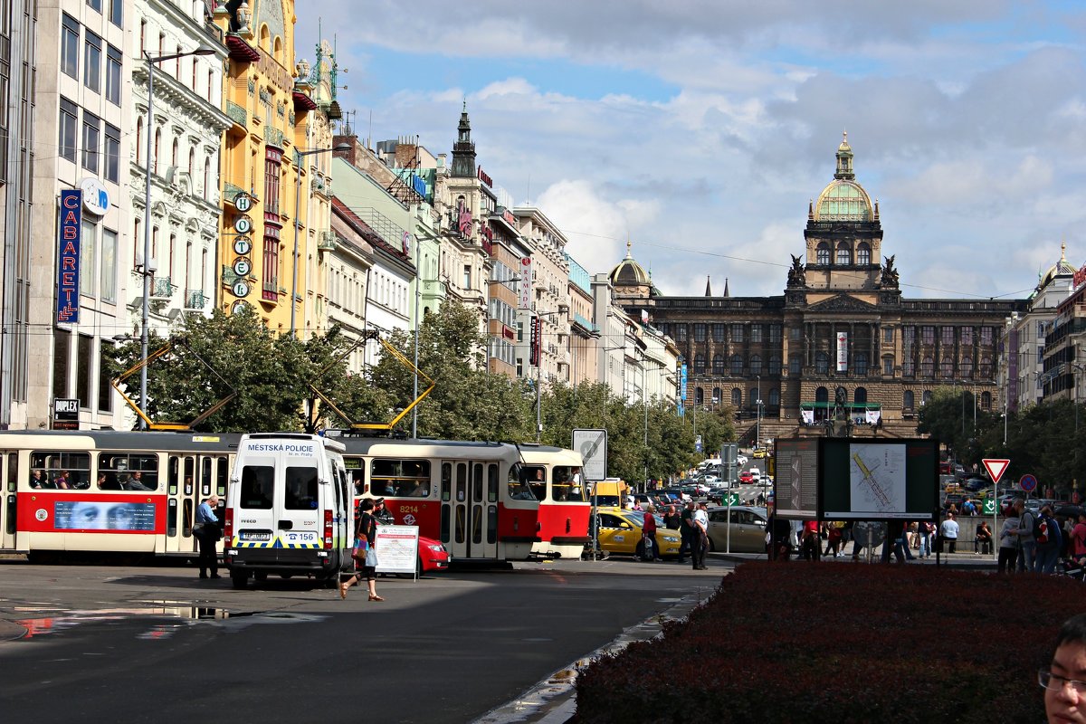
[[[298,0],[372,142],[477,163],[590,274],[783,293],[844,131],[908,299],[1021,299],[1086,263],[1078,0]]]

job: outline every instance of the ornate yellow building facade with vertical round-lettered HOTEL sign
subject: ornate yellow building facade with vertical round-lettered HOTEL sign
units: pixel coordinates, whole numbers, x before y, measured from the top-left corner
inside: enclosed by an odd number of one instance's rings
[[[230,314],[252,307],[270,329],[304,338],[316,323],[308,282],[330,219],[327,113],[307,68],[295,81],[293,0],[219,4],[214,17],[229,51],[223,100],[232,120],[223,139],[216,304]]]

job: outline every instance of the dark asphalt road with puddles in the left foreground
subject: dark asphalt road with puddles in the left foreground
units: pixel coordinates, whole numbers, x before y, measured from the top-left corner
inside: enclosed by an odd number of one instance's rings
[[[386,601],[369,602],[296,580],[237,592],[191,568],[0,561],[0,711],[36,724],[472,722],[689,610],[731,564],[709,566],[613,557],[382,577]],[[501,711],[487,721],[544,721]]]

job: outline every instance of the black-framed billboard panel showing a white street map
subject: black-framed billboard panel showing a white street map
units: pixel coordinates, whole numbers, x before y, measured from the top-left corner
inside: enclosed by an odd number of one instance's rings
[[[936,520],[934,440],[819,440],[820,520]]]

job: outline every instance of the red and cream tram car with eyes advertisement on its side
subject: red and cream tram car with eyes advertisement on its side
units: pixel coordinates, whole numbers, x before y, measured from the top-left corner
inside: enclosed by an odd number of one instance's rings
[[[198,552],[195,510],[225,498],[240,435],[0,432],[0,551]],[[222,545],[222,544],[220,544]]]

